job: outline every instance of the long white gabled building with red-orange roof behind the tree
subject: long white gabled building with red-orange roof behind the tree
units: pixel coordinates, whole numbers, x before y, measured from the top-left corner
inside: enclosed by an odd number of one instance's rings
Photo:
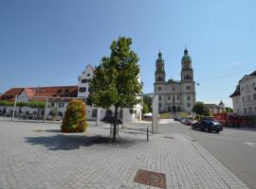
[[[1,95],[0,100],[15,100],[17,102],[23,101],[27,102],[29,100],[46,101],[47,111],[46,118],[50,119],[52,117],[52,109],[54,107],[58,108],[57,120],[61,120],[64,116],[66,106],[70,99],[64,97],[79,97],[85,100],[89,93],[89,80],[93,77],[93,66],[88,64],[82,75],[78,77],[78,85],[74,86],[54,86],[54,87],[26,87],[26,88],[11,88],[9,91]],[[140,77],[138,76],[140,81]],[[37,97],[40,96],[40,97]],[[43,97],[42,97],[43,96]],[[119,117],[125,119],[126,121],[135,121],[141,119],[142,116],[142,104],[137,104],[134,107],[134,113],[130,113],[128,109],[119,110]],[[9,116],[12,114],[13,107],[0,106],[1,112],[5,112]],[[16,114],[36,114],[38,110],[28,107],[23,107],[20,110],[16,110]],[[108,110],[101,109],[101,119],[106,115],[113,115],[114,107],[110,107]],[[123,113],[122,113],[123,112]],[[41,110],[39,113],[40,118],[44,117],[45,110]],[[97,108],[96,107],[86,107],[86,117],[88,120],[96,120],[97,118]]]

